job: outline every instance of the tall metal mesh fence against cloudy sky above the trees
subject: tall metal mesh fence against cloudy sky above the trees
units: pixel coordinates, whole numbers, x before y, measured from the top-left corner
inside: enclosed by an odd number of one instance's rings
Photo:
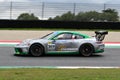
[[[16,19],[22,13],[34,13],[39,19],[48,19],[68,11],[78,14],[86,11],[101,12],[107,8],[120,11],[119,4],[0,2],[0,19]]]

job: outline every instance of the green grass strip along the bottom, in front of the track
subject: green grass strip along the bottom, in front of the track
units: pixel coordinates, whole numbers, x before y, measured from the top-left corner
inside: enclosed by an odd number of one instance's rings
[[[120,69],[0,69],[0,80],[120,80]]]

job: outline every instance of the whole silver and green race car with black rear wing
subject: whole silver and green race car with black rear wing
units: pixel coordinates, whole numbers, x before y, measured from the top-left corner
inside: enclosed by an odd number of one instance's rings
[[[104,52],[103,40],[108,31],[95,31],[91,37],[75,31],[55,31],[41,38],[27,39],[17,44],[15,55],[44,54],[80,54],[88,57],[95,53]]]

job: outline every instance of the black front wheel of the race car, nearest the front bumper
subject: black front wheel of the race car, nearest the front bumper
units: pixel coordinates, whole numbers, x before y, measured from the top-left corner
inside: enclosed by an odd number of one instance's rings
[[[44,54],[44,48],[42,45],[35,43],[31,45],[29,52],[34,57],[40,57]]]

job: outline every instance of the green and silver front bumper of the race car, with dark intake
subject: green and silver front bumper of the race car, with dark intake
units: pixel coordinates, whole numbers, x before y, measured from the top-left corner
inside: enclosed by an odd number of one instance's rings
[[[27,55],[29,53],[28,47],[15,47],[15,55]]]

